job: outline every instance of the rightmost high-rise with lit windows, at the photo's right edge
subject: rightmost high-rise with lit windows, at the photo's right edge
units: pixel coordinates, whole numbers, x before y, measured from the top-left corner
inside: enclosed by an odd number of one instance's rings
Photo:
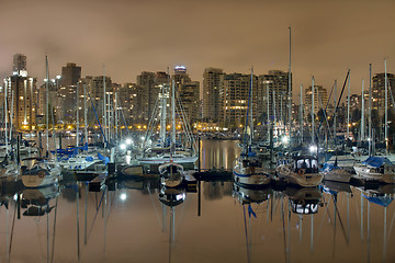
[[[372,110],[376,110],[380,117],[385,115],[385,73],[376,73],[372,78]],[[395,91],[395,75],[387,73],[387,106],[391,108],[391,92]]]

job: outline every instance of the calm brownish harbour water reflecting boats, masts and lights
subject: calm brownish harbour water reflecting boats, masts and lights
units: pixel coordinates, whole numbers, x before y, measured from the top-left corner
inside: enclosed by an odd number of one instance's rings
[[[203,168],[232,168],[239,149],[203,141],[201,152]],[[200,193],[163,193],[156,181],[119,181],[15,195],[3,185],[0,262],[395,262],[394,202],[331,187],[337,194],[202,182]]]

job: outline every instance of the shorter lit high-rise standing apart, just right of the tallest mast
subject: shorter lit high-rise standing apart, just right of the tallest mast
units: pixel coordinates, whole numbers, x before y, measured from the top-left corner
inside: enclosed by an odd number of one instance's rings
[[[305,114],[312,113],[313,93],[312,87],[306,88],[304,95]],[[317,115],[319,110],[324,110],[328,103],[327,89],[321,85],[314,85],[314,114]]]

